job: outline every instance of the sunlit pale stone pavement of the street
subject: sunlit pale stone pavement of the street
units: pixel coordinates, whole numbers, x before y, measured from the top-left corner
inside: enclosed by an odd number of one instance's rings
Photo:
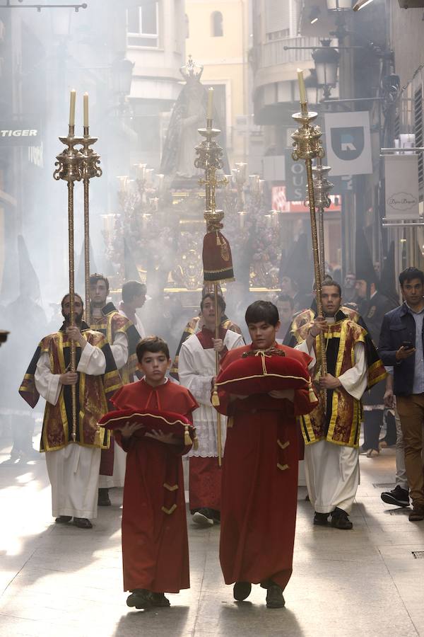
[[[145,612],[127,608],[122,591],[122,491],[112,490],[113,506],[99,510],[92,530],[59,527],[50,516],[44,457],[0,464],[0,635],[424,636],[424,522],[408,522],[408,510],[390,510],[379,498],[393,481],[391,449],[360,461],[352,531],[313,527],[299,489],[285,609],[266,609],[259,586],[235,603],[220,573],[219,527],[196,529],[189,521],[192,588],[170,595],[170,609]]]

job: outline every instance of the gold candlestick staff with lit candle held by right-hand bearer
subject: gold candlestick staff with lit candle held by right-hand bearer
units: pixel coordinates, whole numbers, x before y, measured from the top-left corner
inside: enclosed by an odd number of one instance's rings
[[[312,173],[312,159],[324,157],[324,149],[322,148],[320,137],[321,130],[319,126],[312,126],[318,114],[307,110],[307,99],[305,82],[303,81],[303,72],[298,69],[299,93],[300,93],[300,113],[292,115],[293,120],[301,124],[293,134],[293,147],[295,150],[292,157],[295,161],[304,159],[307,175],[307,190],[309,196],[310,222],[312,231],[312,254],[314,257],[314,275],[317,287],[317,310],[318,316],[323,316],[322,299],[321,299],[321,268],[319,266],[319,250],[318,250],[318,234],[317,234],[317,217],[315,214],[315,197],[314,197],[314,181]],[[324,334],[319,335],[319,360],[321,362],[321,373],[326,374],[326,353]],[[324,400],[324,408],[326,401]]]

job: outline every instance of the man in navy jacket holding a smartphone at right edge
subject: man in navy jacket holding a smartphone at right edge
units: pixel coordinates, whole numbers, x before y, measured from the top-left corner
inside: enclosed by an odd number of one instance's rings
[[[406,268],[399,275],[404,303],[383,319],[379,355],[393,367],[394,395],[405,441],[406,476],[413,510],[411,522],[424,520],[424,272]]]

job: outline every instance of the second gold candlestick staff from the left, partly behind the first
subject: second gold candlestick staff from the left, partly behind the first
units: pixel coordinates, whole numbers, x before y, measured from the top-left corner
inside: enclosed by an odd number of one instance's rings
[[[100,155],[91,146],[97,137],[90,137],[88,127],[88,93],[84,93],[84,135],[81,139],[81,167],[84,183],[84,280],[86,287],[86,323],[90,325],[90,179],[101,177]]]

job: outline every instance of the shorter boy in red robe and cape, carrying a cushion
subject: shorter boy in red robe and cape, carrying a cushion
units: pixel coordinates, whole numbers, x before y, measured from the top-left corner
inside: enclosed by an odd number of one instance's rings
[[[173,411],[192,421],[198,407],[192,394],[165,378],[171,365],[167,343],[144,338],[136,348],[144,377],[113,396],[118,409]],[[141,425],[115,430],[127,452],[122,512],[122,561],[126,604],[136,608],[169,606],[164,592],[189,588],[189,550],[181,440],[160,430],[144,437],[132,434]],[[158,428],[159,429],[159,428]],[[176,505],[176,506],[174,506]]]

